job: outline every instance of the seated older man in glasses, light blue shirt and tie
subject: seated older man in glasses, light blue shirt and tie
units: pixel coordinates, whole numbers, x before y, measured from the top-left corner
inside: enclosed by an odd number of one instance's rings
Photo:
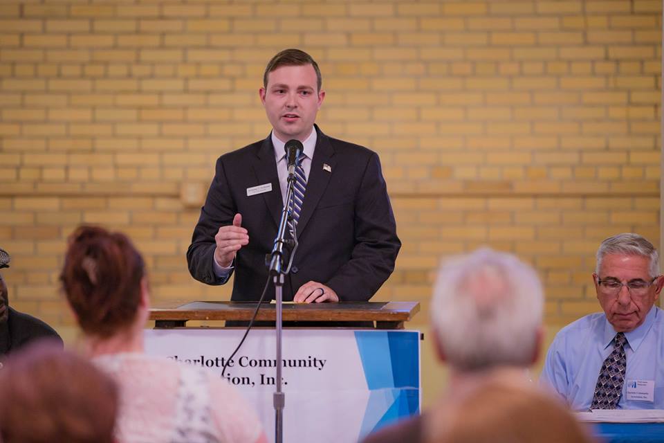
[[[664,312],[654,306],[664,278],[647,239],[605,239],[593,273],[604,313],[555,336],[542,383],[575,410],[664,409]]]

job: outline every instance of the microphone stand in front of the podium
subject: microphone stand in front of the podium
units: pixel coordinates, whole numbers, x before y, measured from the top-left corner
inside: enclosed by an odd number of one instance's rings
[[[270,266],[269,272],[275,281],[275,299],[277,302],[275,309],[275,327],[277,330],[277,380],[275,394],[273,396],[273,404],[275,406],[275,443],[282,443],[284,434],[284,405],[286,403],[286,395],[282,392],[282,305],[283,305],[283,286],[284,275],[291,271],[291,264],[293,264],[293,256],[297,249],[297,235],[295,229],[293,230],[293,239],[286,239],[286,227],[288,220],[293,218],[291,208],[293,207],[293,185],[295,183],[295,174],[288,174],[288,190],[286,191],[286,204],[282,209],[282,219],[279,221],[279,229],[277,230],[277,237],[275,238],[275,245],[273,246],[272,253],[270,253]],[[284,269],[284,248],[293,246],[291,249],[291,257],[288,261],[288,266]]]

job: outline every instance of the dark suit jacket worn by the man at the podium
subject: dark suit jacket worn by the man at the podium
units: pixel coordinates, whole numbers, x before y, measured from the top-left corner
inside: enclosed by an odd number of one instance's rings
[[[316,148],[297,224],[299,247],[284,282],[284,300],[293,300],[302,284],[315,280],[334,289],[341,301],[366,301],[394,270],[401,246],[380,161],[365,147],[315,129]],[[272,185],[270,192],[247,196],[248,188],[266,183]],[[228,280],[214,273],[214,235],[241,213],[249,244],[235,257],[231,300],[258,300],[268,278],[265,257],[272,251],[282,206],[270,136],[221,156],[187,251],[192,276],[207,284]]]

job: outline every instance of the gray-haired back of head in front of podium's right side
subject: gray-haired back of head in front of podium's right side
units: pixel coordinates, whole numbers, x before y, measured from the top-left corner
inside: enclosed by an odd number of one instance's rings
[[[441,264],[431,317],[453,368],[527,366],[537,349],[543,305],[542,283],[532,266],[481,248]]]

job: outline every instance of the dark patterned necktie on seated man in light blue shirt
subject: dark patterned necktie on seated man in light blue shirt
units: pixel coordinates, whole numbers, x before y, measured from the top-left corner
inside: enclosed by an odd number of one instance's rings
[[[625,334],[618,332],[614,338],[614,350],[602,363],[600,375],[597,377],[591,409],[616,409],[618,406],[627,369],[625,343],[627,343]]]

